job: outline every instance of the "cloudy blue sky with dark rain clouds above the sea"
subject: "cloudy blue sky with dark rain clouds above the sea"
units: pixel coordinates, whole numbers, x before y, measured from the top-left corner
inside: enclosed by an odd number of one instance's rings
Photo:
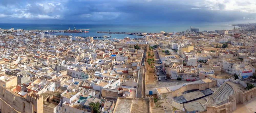
[[[0,23],[255,23],[255,0],[1,0]]]

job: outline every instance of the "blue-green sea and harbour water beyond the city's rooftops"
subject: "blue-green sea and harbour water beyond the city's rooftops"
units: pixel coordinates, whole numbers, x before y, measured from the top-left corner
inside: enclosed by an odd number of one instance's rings
[[[182,32],[190,29],[190,26],[199,28],[200,31],[208,30],[231,30],[234,29],[232,24],[17,24],[17,23],[0,23],[1,29],[24,29],[24,30],[76,30],[90,29],[87,33],[53,33],[54,35],[72,35],[72,36],[111,36],[109,39],[123,39],[125,37],[141,38],[142,36],[126,34],[108,34],[97,33],[96,31],[105,32],[147,32],[158,33],[164,32]],[[235,28],[239,28],[235,26]],[[105,39],[105,38],[104,38]]]

